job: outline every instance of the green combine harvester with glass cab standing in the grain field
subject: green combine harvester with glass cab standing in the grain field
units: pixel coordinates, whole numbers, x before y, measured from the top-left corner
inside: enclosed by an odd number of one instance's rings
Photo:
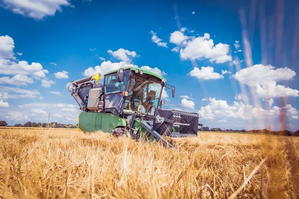
[[[176,137],[197,136],[198,113],[181,110],[163,110],[161,99],[166,79],[152,72],[127,67],[104,75],[95,74],[69,84],[68,90],[82,112],[78,118],[78,130],[103,131],[135,140],[159,141],[173,147]]]

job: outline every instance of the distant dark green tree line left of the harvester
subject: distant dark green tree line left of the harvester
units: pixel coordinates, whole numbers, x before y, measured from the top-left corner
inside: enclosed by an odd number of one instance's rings
[[[0,121],[0,126],[7,126],[7,122],[4,121],[4,120],[1,120]],[[51,122],[49,123],[36,123],[36,122],[31,122],[31,121],[28,121],[26,123],[23,124],[14,124],[14,126],[16,127],[42,127],[42,128],[77,128],[77,124],[61,124],[61,123],[58,123],[58,122]]]

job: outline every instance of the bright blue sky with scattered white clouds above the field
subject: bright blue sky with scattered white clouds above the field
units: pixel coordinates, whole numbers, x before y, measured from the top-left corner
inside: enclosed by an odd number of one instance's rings
[[[0,120],[76,123],[67,83],[135,65],[204,126],[299,129],[296,1],[0,0]]]

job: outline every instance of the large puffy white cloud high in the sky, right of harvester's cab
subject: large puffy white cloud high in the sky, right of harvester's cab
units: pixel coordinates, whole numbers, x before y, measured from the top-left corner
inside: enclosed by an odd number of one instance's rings
[[[229,55],[230,46],[223,43],[214,45],[214,41],[208,33],[202,37],[188,37],[181,31],[175,31],[170,34],[170,42],[180,47],[182,60],[208,59],[210,62],[216,63],[232,61],[232,56]]]

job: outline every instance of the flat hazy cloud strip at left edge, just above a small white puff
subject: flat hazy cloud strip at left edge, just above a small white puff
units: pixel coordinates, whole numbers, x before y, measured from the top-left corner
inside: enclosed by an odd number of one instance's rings
[[[7,99],[37,98],[40,95],[36,90],[25,90],[18,87],[1,86],[0,91],[7,92],[7,94],[4,94]]]

